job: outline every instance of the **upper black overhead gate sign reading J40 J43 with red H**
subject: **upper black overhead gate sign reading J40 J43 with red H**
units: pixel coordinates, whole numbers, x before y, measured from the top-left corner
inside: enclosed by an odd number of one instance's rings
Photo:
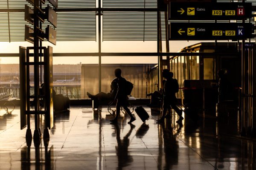
[[[242,20],[252,16],[252,3],[169,3],[169,20]]]

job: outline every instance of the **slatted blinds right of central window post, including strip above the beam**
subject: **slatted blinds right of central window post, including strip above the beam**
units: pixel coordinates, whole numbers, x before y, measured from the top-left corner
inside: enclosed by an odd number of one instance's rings
[[[157,8],[157,0],[103,0],[103,8]],[[164,13],[162,39],[165,40]],[[103,12],[102,39],[157,40],[157,12]]]

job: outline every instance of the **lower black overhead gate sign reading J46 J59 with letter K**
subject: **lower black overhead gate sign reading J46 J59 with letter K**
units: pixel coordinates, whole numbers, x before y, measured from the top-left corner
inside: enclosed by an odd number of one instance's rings
[[[171,23],[169,40],[242,40],[252,37],[250,23]]]

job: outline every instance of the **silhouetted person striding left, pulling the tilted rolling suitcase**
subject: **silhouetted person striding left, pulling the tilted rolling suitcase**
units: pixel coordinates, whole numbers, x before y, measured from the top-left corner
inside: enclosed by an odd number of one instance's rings
[[[132,116],[131,111],[128,108],[128,106],[129,106],[128,96],[126,95],[126,92],[125,92],[126,79],[121,76],[121,73],[122,73],[121,69],[116,68],[115,76],[117,78],[117,93],[116,93],[116,97],[114,99],[115,101],[117,100],[117,102],[116,102],[116,117],[114,119],[110,120],[110,122],[113,122],[113,123],[117,122],[118,116],[120,115],[120,107],[122,106],[123,109],[125,110],[125,112],[131,117],[130,121],[128,122],[128,123],[131,123],[136,119],[134,118],[134,116]]]

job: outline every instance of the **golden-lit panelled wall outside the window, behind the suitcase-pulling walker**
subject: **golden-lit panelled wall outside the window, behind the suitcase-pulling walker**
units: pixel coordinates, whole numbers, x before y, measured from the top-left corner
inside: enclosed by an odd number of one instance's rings
[[[122,77],[130,81],[134,88],[131,96],[135,98],[146,98],[149,83],[148,72],[152,64],[102,64],[101,90],[109,93],[111,81],[116,78],[114,70],[121,68]],[[99,67],[98,65],[82,64],[81,66],[81,97],[88,98],[87,92],[99,93]]]

